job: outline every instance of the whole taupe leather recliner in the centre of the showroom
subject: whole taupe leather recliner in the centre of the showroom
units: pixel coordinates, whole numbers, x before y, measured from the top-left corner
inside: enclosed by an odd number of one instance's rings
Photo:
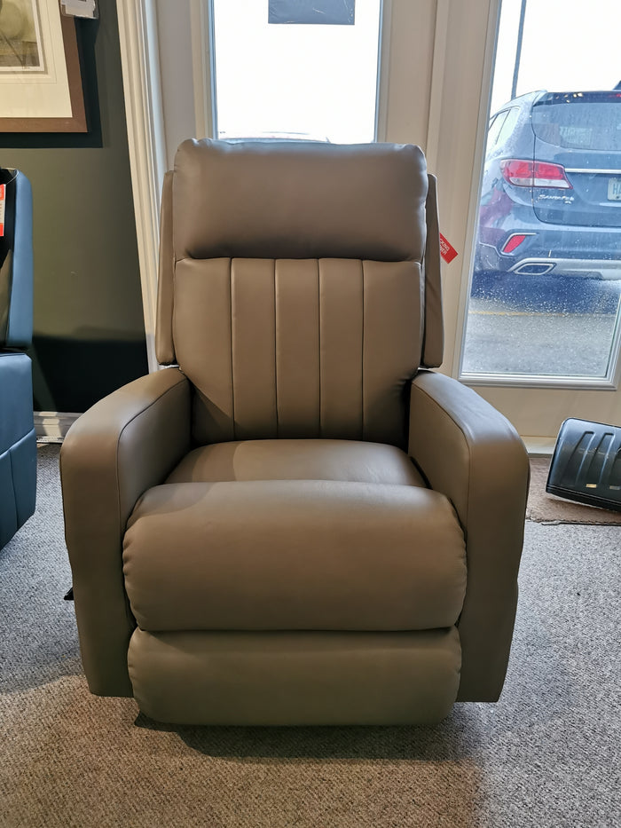
[[[157,353],[61,453],[90,690],[153,719],[438,722],[499,698],[528,462],[442,361],[416,146],[186,141]]]

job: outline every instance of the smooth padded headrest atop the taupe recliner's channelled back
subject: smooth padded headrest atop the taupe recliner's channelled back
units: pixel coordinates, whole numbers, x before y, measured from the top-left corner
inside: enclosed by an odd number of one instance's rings
[[[418,146],[187,140],[175,258],[421,261],[427,191]]]

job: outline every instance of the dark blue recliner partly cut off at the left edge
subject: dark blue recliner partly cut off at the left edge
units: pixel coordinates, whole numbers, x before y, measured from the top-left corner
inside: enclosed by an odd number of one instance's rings
[[[0,548],[34,511],[36,435],[32,365],[32,191],[19,170],[0,170]]]

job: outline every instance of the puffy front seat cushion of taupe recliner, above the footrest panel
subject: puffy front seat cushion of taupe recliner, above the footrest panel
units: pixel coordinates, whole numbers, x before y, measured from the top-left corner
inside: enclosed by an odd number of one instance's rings
[[[138,501],[123,572],[152,632],[416,630],[456,622],[466,555],[451,503],[420,486],[177,483]]]

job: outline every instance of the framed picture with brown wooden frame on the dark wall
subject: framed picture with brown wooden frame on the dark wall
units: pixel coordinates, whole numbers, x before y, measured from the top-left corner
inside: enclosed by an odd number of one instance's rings
[[[59,0],[0,0],[0,132],[86,132],[75,19]]]

